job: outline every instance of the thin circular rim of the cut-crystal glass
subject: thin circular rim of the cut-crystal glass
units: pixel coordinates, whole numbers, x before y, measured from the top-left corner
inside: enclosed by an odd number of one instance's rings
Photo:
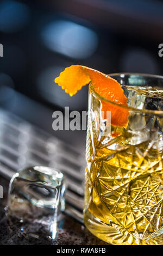
[[[143,77],[151,77],[151,78],[160,78],[162,79],[163,81],[163,76],[160,76],[160,75],[152,75],[152,74],[145,74],[145,73],[134,73],[134,72],[117,72],[117,73],[111,73],[111,74],[108,74],[108,76],[112,77],[113,79],[114,76],[121,76],[121,75],[137,75],[137,76],[143,76]],[[122,77],[124,78],[124,77]],[[99,95],[95,89],[93,88],[93,85],[92,83],[90,82],[89,83],[89,88],[91,89],[91,93],[93,93],[93,95],[95,95],[96,97],[99,98],[99,100],[103,100],[105,102],[108,102],[108,103],[111,103],[111,104],[114,104],[118,107],[123,107],[123,108],[126,108],[128,109],[128,111],[133,111],[133,112],[141,112],[141,113],[146,113],[146,114],[154,114],[154,115],[163,115],[163,111],[161,110],[151,110],[151,109],[139,109],[139,108],[134,108],[134,107],[129,107],[129,106],[125,106],[123,104],[118,104],[114,101],[111,101],[111,100],[108,100],[106,99],[105,97],[103,97],[102,95]]]

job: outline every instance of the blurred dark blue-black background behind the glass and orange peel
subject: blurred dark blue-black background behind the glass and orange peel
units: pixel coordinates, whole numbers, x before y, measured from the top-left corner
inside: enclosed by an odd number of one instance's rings
[[[54,78],[72,64],[163,75],[162,14],[154,0],[0,1],[1,106],[72,141],[71,131],[52,130],[52,112],[87,109],[87,88],[70,97]]]

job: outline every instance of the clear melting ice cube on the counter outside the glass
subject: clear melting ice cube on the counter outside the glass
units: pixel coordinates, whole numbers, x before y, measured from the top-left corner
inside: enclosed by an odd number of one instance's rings
[[[16,173],[9,185],[7,215],[10,225],[16,220],[23,223],[23,231],[26,227],[25,231],[35,235],[38,227],[51,231],[60,210],[64,210],[64,193],[63,174],[53,168],[35,166]],[[52,236],[54,238],[54,234]]]

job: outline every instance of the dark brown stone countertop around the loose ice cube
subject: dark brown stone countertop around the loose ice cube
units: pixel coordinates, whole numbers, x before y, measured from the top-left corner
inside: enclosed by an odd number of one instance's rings
[[[27,236],[20,229],[11,229],[5,216],[9,182],[0,176],[3,199],[0,199],[0,245],[108,245],[97,239],[83,225],[63,215],[58,223],[57,238]]]

